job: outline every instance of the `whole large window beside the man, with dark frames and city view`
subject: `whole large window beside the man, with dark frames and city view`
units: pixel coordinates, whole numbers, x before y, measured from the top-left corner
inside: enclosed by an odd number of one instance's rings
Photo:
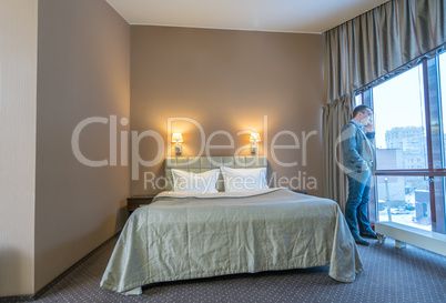
[[[371,221],[445,233],[446,53],[424,59],[363,98],[374,109],[376,131]]]

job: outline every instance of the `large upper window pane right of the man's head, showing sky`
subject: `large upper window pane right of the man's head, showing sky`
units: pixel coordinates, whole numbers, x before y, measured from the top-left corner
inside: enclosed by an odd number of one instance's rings
[[[427,169],[422,65],[373,89],[378,170]]]

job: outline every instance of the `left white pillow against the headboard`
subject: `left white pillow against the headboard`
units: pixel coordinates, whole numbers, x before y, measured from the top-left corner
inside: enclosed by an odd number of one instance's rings
[[[173,191],[185,193],[216,193],[216,182],[220,171],[211,170],[193,173],[172,169]]]

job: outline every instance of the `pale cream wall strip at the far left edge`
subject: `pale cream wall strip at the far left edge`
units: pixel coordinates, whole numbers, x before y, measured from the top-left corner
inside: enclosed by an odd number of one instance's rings
[[[34,286],[37,23],[37,1],[0,1],[0,296]]]

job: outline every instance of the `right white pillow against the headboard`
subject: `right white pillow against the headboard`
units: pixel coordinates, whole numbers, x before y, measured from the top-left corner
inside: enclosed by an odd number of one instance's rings
[[[267,189],[266,168],[231,169],[221,166],[225,192],[245,192]]]

